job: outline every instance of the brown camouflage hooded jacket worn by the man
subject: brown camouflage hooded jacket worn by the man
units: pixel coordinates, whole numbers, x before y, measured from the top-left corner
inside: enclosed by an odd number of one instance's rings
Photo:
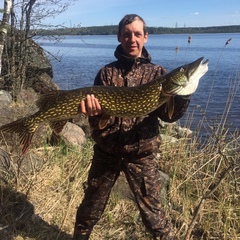
[[[138,86],[166,73],[166,70],[151,63],[151,57],[143,48],[142,57],[132,59],[124,56],[121,45],[115,51],[117,61],[104,66],[98,72],[94,85],[118,87]],[[104,129],[98,128],[101,116],[89,117],[92,137],[103,151],[110,154],[141,154],[159,148],[159,121],[173,122],[179,119],[187,109],[189,97],[175,97],[172,119],[168,118],[165,104],[145,117],[117,118],[111,117]],[[141,103],[139,103],[141,104]]]

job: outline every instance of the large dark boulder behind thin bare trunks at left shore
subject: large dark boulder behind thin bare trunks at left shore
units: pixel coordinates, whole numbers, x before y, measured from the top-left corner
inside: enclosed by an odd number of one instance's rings
[[[8,36],[7,44],[5,45],[7,49],[2,57],[0,89],[11,92],[14,97],[22,89],[32,88],[40,94],[59,89],[58,85],[53,81],[53,68],[44,49],[31,38],[24,41],[25,45],[22,47],[16,35],[13,35],[16,39],[14,40],[14,53],[16,55],[12,58],[15,60],[15,67],[9,65],[13,50],[11,45],[12,37]],[[15,69],[18,72],[15,74],[13,70],[10,71],[9,69]]]

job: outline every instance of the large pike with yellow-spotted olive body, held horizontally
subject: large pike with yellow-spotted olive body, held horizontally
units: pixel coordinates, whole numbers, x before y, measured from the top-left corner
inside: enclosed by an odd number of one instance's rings
[[[106,126],[109,116],[132,118],[149,114],[167,103],[171,118],[174,111],[173,97],[189,95],[196,91],[199,79],[208,70],[208,60],[203,58],[183,65],[147,84],[137,87],[92,86],[74,90],[56,90],[40,96],[39,111],[0,127],[0,131],[16,132],[25,154],[32,137],[41,122],[49,122],[55,133],[59,133],[64,121],[80,114],[79,103],[88,94],[99,100],[104,114],[100,128]]]

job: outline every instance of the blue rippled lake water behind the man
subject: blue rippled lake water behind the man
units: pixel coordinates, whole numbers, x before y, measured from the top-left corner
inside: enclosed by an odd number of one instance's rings
[[[188,34],[149,35],[146,44],[152,62],[168,71],[199,57],[209,59],[209,70],[192,95],[181,125],[196,129],[204,116],[205,126],[201,131],[207,131],[204,128],[208,124],[223,124],[227,116],[227,126],[239,129],[240,34],[193,34],[191,37],[189,44]],[[54,55],[49,55],[54,80],[62,89],[92,85],[98,70],[115,60],[113,53],[118,45],[116,36],[112,35],[65,36],[60,41],[39,38],[37,41]]]

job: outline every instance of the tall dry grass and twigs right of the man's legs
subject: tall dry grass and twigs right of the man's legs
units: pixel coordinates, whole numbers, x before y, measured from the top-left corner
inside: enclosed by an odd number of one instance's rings
[[[180,239],[240,239],[239,134],[165,147],[162,167],[172,173],[171,214]]]

